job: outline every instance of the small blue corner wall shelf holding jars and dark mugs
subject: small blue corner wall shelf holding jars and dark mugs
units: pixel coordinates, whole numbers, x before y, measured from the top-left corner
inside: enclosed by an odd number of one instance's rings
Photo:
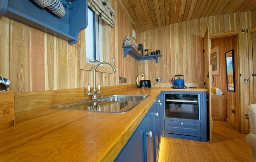
[[[132,45],[123,45],[122,47],[124,49],[124,57],[126,57],[126,55],[128,54],[138,61],[156,59],[156,63],[158,63],[158,57],[162,57],[162,55],[143,56],[141,55],[141,53],[139,53],[139,51],[137,51],[134,47],[132,47]]]

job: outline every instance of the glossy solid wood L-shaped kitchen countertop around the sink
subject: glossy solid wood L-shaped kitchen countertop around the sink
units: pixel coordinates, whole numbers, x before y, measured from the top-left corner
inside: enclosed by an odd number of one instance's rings
[[[0,131],[0,161],[113,161],[162,91],[207,89],[134,88],[115,94],[146,94],[127,113],[50,110],[16,113],[26,120]]]

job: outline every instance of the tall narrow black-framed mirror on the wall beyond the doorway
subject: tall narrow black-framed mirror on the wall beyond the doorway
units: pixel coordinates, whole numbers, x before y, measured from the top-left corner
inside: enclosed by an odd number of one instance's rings
[[[225,53],[226,60],[226,82],[227,90],[235,91],[235,82],[234,82],[234,51],[230,50]]]

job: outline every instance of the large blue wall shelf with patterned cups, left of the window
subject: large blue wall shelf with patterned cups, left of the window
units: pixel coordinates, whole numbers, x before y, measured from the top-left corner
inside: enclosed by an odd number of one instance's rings
[[[58,17],[33,0],[0,0],[0,16],[6,16],[28,26],[67,40],[78,41],[78,34],[87,27],[87,0],[61,0],[66,15]]]

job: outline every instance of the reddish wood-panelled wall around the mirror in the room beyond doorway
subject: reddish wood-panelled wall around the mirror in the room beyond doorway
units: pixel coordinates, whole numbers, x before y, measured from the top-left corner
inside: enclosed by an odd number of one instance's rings
[[[215,75],[215,81],[213,87],[221,89],[227,98],[227,120],[237,124],[237,114],[231,112],[234,109],[236,113],[239,112],[239,63],[238,63],[238,42],[237,36],[229,36],[222,38],[211,39],[211,47],[219,45],[219,75]],[[225,53],[234,50],[234,78],[235,78],[235,92],[227,91],[226,85],[226,62]]]

